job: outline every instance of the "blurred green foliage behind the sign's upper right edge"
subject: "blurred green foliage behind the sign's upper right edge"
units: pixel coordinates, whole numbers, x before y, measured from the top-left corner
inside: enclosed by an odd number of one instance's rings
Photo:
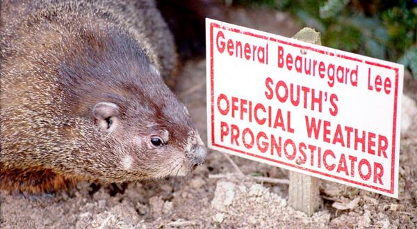
[[[417,4],[411,0],[235,0],[289,11],[322,33],[322,44],[399,62],[417,79]]]

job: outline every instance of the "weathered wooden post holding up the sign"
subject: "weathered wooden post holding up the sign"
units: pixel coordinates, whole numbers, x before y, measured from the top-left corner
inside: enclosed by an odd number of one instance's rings
[[[320,33],[311,28],[304,28],[293,36],[297,40],[321,45]],[[308,52],[307,52],[308,55]],[[289,203],[296,210],[313,215],[320,204],[318,187],[320,179],[290,171]]]

